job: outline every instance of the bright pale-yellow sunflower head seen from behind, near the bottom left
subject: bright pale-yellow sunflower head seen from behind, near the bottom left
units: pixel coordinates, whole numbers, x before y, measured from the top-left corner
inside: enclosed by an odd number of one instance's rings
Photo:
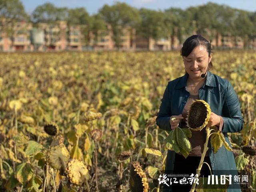
[[[81,186],[85,178],[88,180],[88,169],[81,160],[71,159],[66,168],[66,175],[72,184]]]

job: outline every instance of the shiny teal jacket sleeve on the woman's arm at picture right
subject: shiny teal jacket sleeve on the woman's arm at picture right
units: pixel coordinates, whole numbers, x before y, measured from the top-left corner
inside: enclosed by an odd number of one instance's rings
[[[229,81],[222,108],[222,118],[222,132],[240,132],[242,130],[244,119],[240,110],[240,103]]]

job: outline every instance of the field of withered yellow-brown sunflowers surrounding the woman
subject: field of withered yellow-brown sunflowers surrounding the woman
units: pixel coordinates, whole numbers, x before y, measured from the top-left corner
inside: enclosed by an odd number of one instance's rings
[[[253,191],[256,52],[214,50],[212,63],[239,97],[244,127],[229,136]],[[0,192],[161,191],[156,115],[184,75],[178,51],[2,53],[0,68]]]

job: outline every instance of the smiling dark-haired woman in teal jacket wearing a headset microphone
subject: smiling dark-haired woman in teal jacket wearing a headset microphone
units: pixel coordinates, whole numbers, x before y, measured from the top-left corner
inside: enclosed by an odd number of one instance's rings
[[[156,118],[156,124],[168,132],[176,129],[177,126],[187,128],[186,117],[190,104],[194,99],[205,100],[212,110],[207,126],[218,127],[231,146],[227,133],[242,130],[244,120],[238,96],[230,82],[209,71],[212,67],[210,42],[200,35],[193,35],[184,42],[181,55],[186,73],[184,76],[168,82]],[[171,120],[174,117],[176,120]],[[189,140],[192,151],[187,158],[173,150],[168,150],[166,171],[173,170],[174,173],[189,175],[193,172],[195,174],[206,140],[205,129],[192,131],[192,137]],[[234,154],[231,151],[222,146],[214,154],[210,142],[208,148],[204,161],[210,165],[212,174],[216,173],[216,170],[232,170],[237,173]],[[209,168],[204,164],[202,170],[209,170]],[[208,174],[210,172],[204,171],[204,176]],[[176,192],[179,190],[187,192],[191,186],[186,185],[184,187],[184,185],[180,185],[177,188],[177,186],[172,185],[172,187],[172,190],[166,189],[164,191]],[[240,191],[240,188],[228,188],[228,192]]]

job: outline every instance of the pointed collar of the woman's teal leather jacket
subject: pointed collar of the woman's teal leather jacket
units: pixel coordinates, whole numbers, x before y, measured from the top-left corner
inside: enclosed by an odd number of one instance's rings
[[[205,85],[210,86],[210,87],[216,87],[216,82],[215,82],[214,75],[210,71],[207,72],[205,78],[206,78],[206,80],[205,80],[204,85],[202,86],[202,88],[204,88]],[[187,86],[187,79],[188,79],[188,73],[186,72],[186,74],[184,74],[184,76],[180,77],[180,80],[176,84],[176,89],[186,87]]]

